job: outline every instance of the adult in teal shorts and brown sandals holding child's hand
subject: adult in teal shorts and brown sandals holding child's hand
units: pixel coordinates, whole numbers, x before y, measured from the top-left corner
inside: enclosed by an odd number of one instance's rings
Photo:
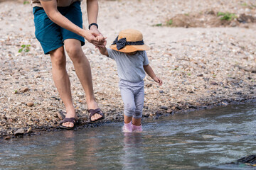
[[[87,0],[89,30],[82,29],[80,1],[82,0],[31,0],[36,38],[41,43],[44,53],[50,55],[53,81],[67,112],[65,119],[60,122],[60,127],[66,129],[73,129],[78,116],[75,114],[70,79],[65,69],[65,50],[85,90],[90,121],[95,122],[104,118],[93,94],[90,63],[81,46],[85,44],[85,39],[96,47],[106,45],[106,40],[97,29],[97,0]]]

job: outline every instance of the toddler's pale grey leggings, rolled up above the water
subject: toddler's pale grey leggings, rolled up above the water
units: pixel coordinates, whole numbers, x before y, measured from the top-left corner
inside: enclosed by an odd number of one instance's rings
[[[142,118],[144,106],[144,81],[119,81],[122,100],[124,101],[124,115],[133,118]]]

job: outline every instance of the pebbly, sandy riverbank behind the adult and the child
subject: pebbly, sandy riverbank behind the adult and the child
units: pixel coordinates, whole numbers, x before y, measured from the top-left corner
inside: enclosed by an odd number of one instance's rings
[[[159,24],[178,14],[208,9],[255,17],[253,2],[99,1],[98,23],[107,36],[107,46],[120,30],[136,28],[151,47],[147,52],[151,67],[164,85],[158,86],[146,77],[144,118],[255,99],[255,23],[219,28]],[[82,11],[87,28],[85,2]],[[9,139],[14,134],[58,130],[60,111],[65,108],[53,84],[50,57],[43,55],[34,36],[31,6],[17,1],[1,2],[0,25],[0,136]],[[105,112],[105,121],[122,121],[123,105],[114,61],[100,55],[89,43],[82,49],[90,60],[95,97]],[[67,69],[80,117],[79,128],[90,126],[85,93],[70,59]]]

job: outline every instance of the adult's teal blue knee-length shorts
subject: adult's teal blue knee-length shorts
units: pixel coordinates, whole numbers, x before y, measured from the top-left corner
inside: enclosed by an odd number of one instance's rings
[[[75,1],[70,6],[58,7],[58,11],[68,18],[76,26],[82,28],[82,11],[80,1]],[[85,38],[69,30],[61,28],[48,18],[46,12],[41,7],[33,7],[35,35],[43,47],[43,52],[48,55],[50,51],[64,45],[66,39],[80,40],[81,45],[85,45]]]

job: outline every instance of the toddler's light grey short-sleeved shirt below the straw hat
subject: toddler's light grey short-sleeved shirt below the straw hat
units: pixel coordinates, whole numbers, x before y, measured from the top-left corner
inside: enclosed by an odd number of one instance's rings
[[[107,48],[110,58],[117,62],[117,73],[120,79],[138,82],[142,81],[146,73],[143,66],[149,64],[146,51],[138,51],[135,55],[126,55],[124,52],[118,52]]]

